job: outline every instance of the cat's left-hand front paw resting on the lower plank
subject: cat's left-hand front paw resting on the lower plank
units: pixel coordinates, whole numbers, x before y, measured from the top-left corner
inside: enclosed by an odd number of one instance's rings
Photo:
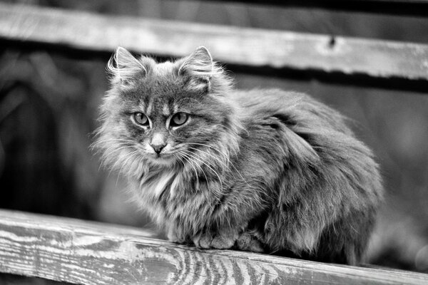
[[[193,243],[201,249],[230,249],[238,239],[237,229],[218,229],[215,232],[205,231],[193,238]]]

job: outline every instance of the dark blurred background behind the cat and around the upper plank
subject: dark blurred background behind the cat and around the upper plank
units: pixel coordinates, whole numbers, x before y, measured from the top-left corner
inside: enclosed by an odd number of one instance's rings
[[[415,16],[211,1],[3,2],[428,43],[428,19]],[[76,58],[0,46],[0,208],[151,227],[128,202],[123,180],[99,169],[89,148],[108,88],[108,56]],[[250,75],[233,67],[231,75],[237,88],[302,91],[351,119],[376,153],[387,190],[369,261],[428,273],[428,94]]]

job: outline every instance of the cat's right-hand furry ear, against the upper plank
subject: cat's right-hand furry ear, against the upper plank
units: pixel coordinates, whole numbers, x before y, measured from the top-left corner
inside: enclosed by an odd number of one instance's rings
[[[215,64],[210,51],[200,46],[180,62],[178,76],[188,78],[188,87],[192,89],[210,90],[210,81],[215,73]]]

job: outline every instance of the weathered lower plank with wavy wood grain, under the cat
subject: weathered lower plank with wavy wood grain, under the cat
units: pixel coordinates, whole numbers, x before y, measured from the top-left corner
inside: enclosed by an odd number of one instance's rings
[[[427,274],[201,251],[139,229],[0,210],[0,271],[72,284],[428,284]]]

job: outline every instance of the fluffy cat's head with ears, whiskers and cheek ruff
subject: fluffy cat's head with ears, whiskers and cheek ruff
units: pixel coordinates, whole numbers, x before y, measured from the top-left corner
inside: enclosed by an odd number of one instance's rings
[[[96,142],[106,165],[136,174],[141,167],[195,167],[236,147],[230,79],[207,48],[163,63],[117,48],[108,71]]]

